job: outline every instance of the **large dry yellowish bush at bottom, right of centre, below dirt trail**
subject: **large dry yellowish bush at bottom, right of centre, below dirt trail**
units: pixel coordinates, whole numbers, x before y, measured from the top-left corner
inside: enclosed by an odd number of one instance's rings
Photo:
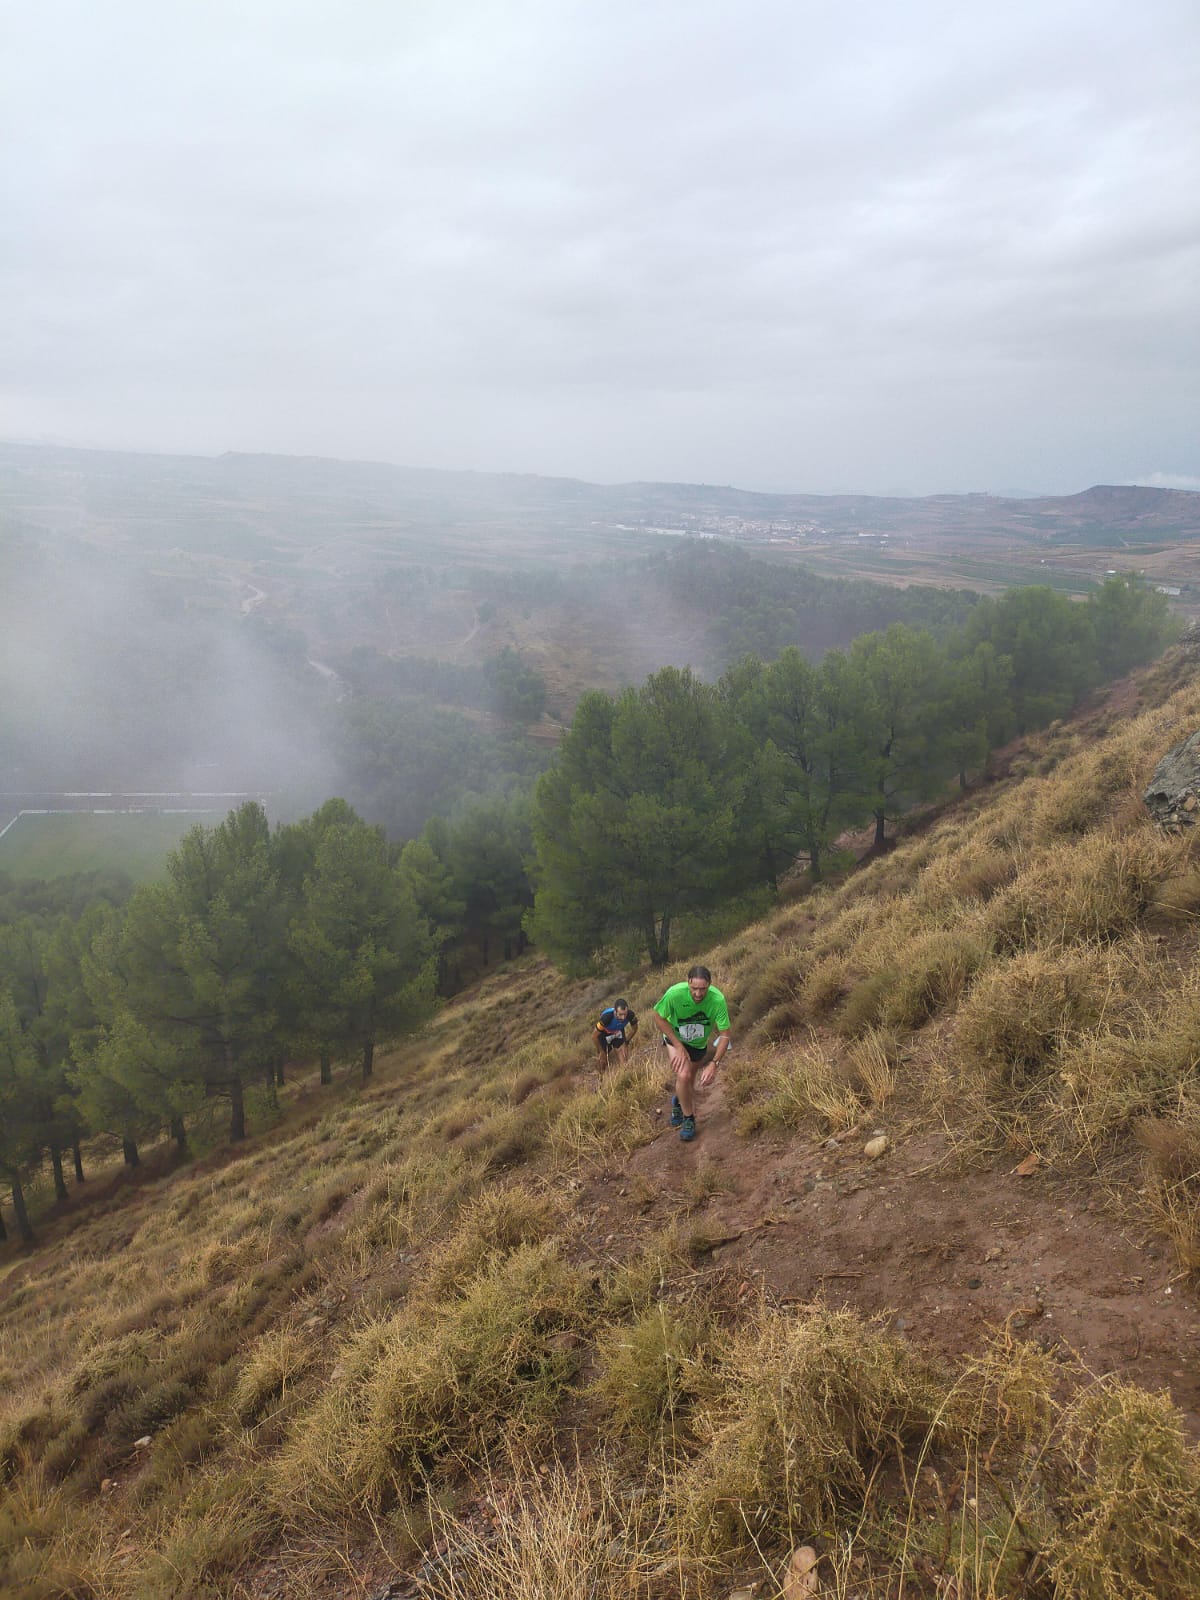
[[[685,1549],[710,1555],[843,1520],[875,1467],[926,1437],[942,1394],[902,1339],[824,1307],[758,1310],[694,1382],[698,1446],[672,1501]]]

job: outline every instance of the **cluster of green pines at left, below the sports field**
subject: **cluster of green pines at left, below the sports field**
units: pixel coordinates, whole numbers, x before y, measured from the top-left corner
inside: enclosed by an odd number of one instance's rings
[[[136,1166],[187,1147],[206,1101],[246,1133],[246,1090],[296,1056],[352,1061],[419,1026],[472,962],[523,947],[531,894],[520,797],[474,797],[398,846],[344,800],[272,827],[256,803],[194,827],[136,890],[96,877],[0,880],[0,1182],[32,1237],[42,1168],[67,1198],[82,1141]],[[0,1238],[5,1238],[0,1216]]]

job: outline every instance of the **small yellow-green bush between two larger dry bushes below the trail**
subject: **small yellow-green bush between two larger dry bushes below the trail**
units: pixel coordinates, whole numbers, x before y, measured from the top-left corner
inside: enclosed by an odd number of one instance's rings
[[[696,1355],[712,1326],[696,1307],[656,1304],[597,1339],[590,1394],[605,1422],[635,1446],[667,1448],[683,1421]]]

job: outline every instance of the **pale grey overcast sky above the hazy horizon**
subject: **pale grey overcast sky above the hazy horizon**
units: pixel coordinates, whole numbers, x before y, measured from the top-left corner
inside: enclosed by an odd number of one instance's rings
[[[1200,488],[1195,0],[5,0],[0,435]]]

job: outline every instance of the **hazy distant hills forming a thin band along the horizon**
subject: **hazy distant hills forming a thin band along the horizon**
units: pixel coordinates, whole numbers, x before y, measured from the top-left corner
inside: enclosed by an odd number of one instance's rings
[[[170,520],[187,506],[218,515],[264,499],[338,515],[370,510],[410,525],[451,520],[542,526],[666,528],[677,533],[875,533],[995,538],[1030,544],[1144,544],[1200,539],[1200,493],[1096,485],[1082,494],[760,494],[704,483],[586,483],[533,474],[442,472],[317,456],[165,456],[0,443],[0,510],[53,525],[69,510],[98,520]],[[738,525],[757,525],[739,528]]]

